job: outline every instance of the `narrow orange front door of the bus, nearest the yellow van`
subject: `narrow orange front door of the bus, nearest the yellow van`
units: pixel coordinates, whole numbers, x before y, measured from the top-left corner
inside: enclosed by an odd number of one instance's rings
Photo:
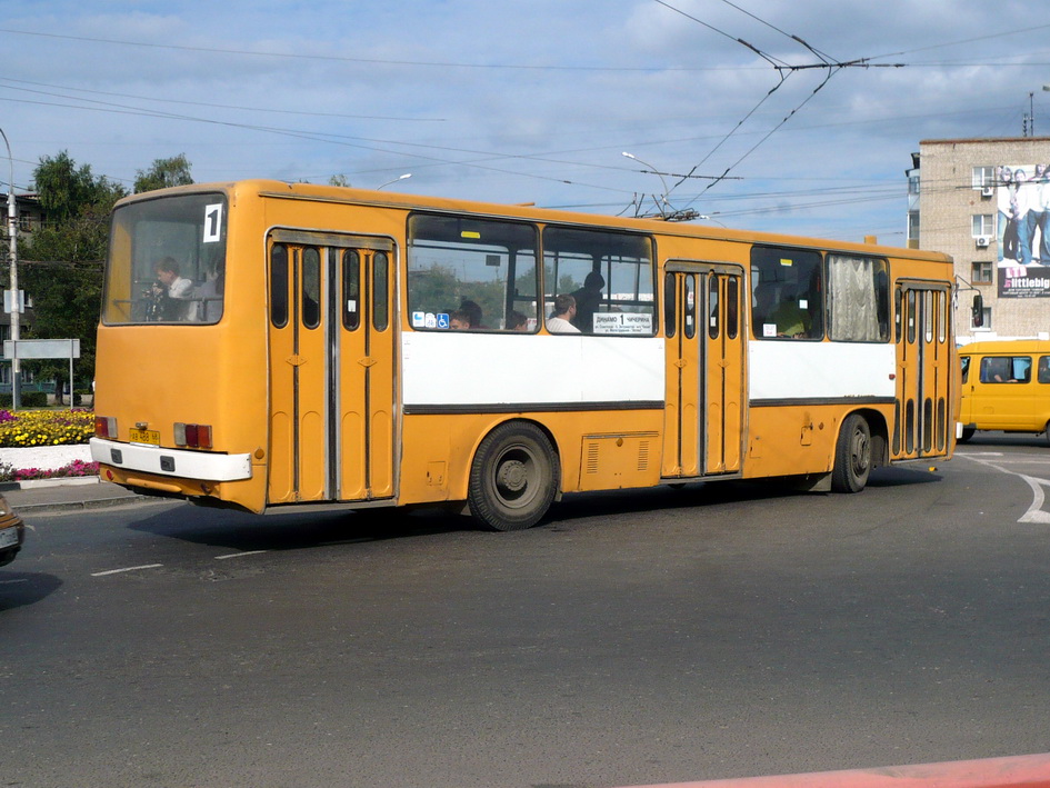
[[[899,281],[894,289],[897,412],[894,460],[948,451],[954,428],[951,299],[942,283]]]

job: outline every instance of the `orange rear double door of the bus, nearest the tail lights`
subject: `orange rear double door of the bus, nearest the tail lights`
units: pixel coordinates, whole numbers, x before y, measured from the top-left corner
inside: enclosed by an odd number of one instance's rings
[[[270,503],[393,496],[393,245],[269,241]]]

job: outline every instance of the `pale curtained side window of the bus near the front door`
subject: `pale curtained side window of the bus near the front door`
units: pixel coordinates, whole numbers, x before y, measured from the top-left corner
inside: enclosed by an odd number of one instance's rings
[[[828,256],[831,339],[878,342],[887,339],[886,262]]]

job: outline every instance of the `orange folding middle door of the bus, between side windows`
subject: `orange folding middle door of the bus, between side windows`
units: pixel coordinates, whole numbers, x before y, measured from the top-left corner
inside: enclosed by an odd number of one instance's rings
[[[739,473],[746,402],[743,271],[693,262],[669,262],[666,270],[662,475]]]

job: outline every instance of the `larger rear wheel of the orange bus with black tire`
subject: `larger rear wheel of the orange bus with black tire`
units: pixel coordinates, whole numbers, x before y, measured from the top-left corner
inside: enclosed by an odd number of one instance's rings
[[[554,500],[558,471],[558,458],[539,427],[502,423],[481,441],[470,466],[470,513],[494,531],[531,528]]]

